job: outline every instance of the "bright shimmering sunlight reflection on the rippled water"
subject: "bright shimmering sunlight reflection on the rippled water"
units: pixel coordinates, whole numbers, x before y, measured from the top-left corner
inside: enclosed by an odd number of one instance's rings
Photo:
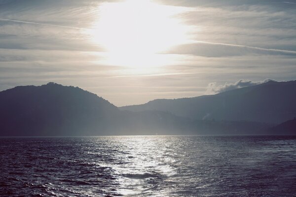
[[[158,190],[158,182],[170,181],[170,177],[176,173],[171,164],[177,161],[171,157],[167,139],[161,136],[120,136],[112,139],[117,143],[118,154],[113,155],[116,162],[100,165],[114,170],[120,183],[116,190],[119,195]]]

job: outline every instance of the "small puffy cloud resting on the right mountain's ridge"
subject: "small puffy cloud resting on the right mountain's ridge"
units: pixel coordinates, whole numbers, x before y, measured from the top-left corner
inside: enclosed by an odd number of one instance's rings
[[[275,80],[265,79],[263,81],[251,81],[251,80],[240,79],[234,83],[225,83],[224,85],[217,85],[216,82],[209,83],[206,90],[206,95],[213,95],[213,94],[218,94],[218,93],[222,93],[222,92],[226,92],[226,91],[234,90],[238,88],[255,86],[262,83],[266,83],[268,81],[275,81]]]

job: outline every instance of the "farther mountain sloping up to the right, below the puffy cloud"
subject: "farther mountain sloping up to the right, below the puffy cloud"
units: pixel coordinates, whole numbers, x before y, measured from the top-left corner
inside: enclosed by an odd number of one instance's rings
[[[279,124],[296,116],[296,81],[269,81],[217,95],[156,99],[120,110],[160,110],[196,120],[252,121]]]

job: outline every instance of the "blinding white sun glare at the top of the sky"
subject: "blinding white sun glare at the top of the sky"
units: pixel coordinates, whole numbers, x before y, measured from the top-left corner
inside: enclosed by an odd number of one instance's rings
[[[152,66],[155,54],[186,42],[186,26],[176,17],[184,11],[150,0],[102,3],[91,40],[107,51],[110,64]]]

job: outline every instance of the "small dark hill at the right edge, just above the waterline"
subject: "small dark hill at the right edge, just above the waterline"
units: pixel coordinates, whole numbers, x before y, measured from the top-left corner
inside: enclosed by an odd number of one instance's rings
[[[281,123],[269,129],[270,134],[296,134],[296,118]]]

